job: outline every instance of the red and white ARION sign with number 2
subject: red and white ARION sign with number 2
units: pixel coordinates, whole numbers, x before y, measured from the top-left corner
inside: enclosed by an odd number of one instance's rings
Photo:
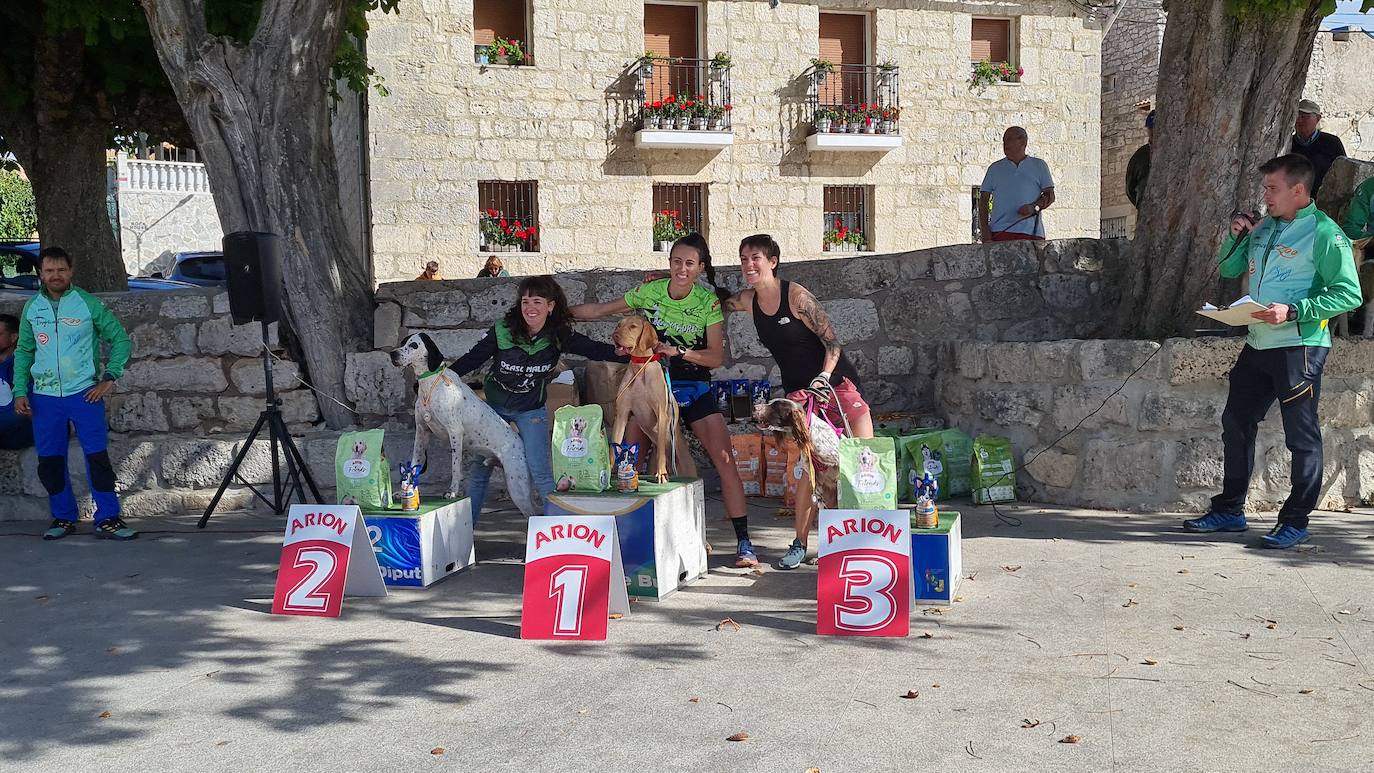
[[[357,505],[291,505],[273,615],[337,618],[349,596],[386,596]]]

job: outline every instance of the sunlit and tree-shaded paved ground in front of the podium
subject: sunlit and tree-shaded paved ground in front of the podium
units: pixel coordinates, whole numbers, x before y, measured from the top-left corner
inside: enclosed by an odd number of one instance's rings
[[[518,638],[511,515],[481,566],[338,621],[267,614],[275,519],[133,544],[3,524],[0,768],[1374,769],[1369,514],[1274,553],[1173,516],[962,509],[962,601],[868,641],[815,636],[813,568],[724,567],[714,519],[709,578],[585,645]],[[783,522],[753,514],[776,557]]]

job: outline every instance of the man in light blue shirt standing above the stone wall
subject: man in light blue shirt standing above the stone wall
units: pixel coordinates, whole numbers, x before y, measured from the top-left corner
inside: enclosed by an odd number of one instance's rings
[[[984,242],[1044,240],[1040,213],[1054,203],[1054,178],[1043,159],[1026,155],[1029,140],[1021,126],[1002,133],[1006,158],[988,168],[978,192],[978,227]]]

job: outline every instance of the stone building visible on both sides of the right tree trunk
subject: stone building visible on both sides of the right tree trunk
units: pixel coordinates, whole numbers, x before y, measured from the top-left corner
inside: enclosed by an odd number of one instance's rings
[[[1161,0],[1125,5],[1102,38],[1102,236],[1135,232],[1125,195],[1125,168],[1145,144],[1145,115],[1154,107],[1167,14]],[[1374,161],[1374,37],[1319,32],[1304,96],[1322,106],[1322,130],[1345,144],[1351,158]]]

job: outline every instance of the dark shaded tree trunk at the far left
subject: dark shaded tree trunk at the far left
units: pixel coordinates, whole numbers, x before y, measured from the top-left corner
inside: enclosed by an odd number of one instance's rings
[[[78,286],[128,290],[124,258],[110,222],[107,118],[85,73],[80,30],[40,26],[33,43],[32,119],[12,115],[0,128],[33,184],[43,244],[65,249]]]

